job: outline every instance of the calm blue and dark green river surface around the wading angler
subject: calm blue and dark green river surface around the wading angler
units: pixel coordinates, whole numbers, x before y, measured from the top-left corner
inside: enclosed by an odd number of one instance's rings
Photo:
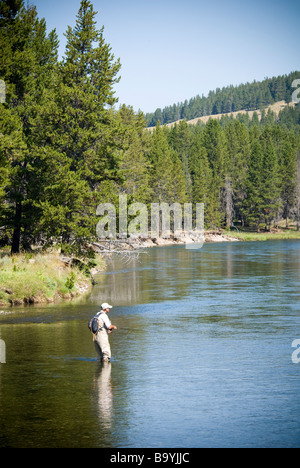
[[[0,447],[300,446],[300,241],[154,248],[98,281],[0,314]],[[102,367],[87,322],[104,301]]]

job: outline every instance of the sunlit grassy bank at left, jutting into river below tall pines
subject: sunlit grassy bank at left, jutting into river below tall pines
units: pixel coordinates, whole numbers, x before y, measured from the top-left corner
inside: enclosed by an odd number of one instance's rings
[[[88,292],[91,286],[91,278],[66,265],[58,253],[11,257],[1,252],[0,306],[71,299]]]

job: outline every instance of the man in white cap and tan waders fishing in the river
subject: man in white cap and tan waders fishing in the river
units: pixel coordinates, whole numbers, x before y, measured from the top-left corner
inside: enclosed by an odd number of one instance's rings
[[[100,360],[102,362],[110,362],[111,350],[108,335],[112,333],[112,330],[117,330],[117,327],[111,324],[111,321],[107,316],[110,309],[112,309],[112,306],[105,302],[102,304],[101,309],[102,310],[96,315],[98,330],[93,334],[93,339]]]

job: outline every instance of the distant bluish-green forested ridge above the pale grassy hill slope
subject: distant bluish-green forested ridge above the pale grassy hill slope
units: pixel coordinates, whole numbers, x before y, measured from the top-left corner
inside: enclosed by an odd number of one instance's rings
[[[266,78],[261,82],[217,88],[215,91],[210,91],[207,97],[198,95],[189,101],[146,114],[147,126],[155,127],[158,121],[161,124],[168,124],[180,119],[192,120],[205,115],[256,110],[283,100],[290,102],[295,91],[292,83],[299,77],[300,72],[295,71],[289,75]]]

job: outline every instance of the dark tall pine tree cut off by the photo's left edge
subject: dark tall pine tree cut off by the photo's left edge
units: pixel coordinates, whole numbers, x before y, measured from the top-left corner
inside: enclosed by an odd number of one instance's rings
[[[8,231],[12,231],[12,253],[18,253],[21,241],[23,247],[29,247],[33,240],[32,226],[40,215],[36,201],[40,192],[37,173],[41,161],[32,129],[43,99],[41,90],[51,80],[57,41],[54,32],[47,37],[45,21],[38,19],[35,8],[25,8],[23,2],[2,1],[0,11],[0,42],[3,44],[0,78],[6,84],[4,106],[10,113],[12,127],[18,133],[14,148],[9,138],[6,148],[3,148],[2,141],[2,150],[10,155],[5,187],[5,225]],[[5,119],[0,125],[5,126]],[[7,137],[10,134],[8,131]]]

